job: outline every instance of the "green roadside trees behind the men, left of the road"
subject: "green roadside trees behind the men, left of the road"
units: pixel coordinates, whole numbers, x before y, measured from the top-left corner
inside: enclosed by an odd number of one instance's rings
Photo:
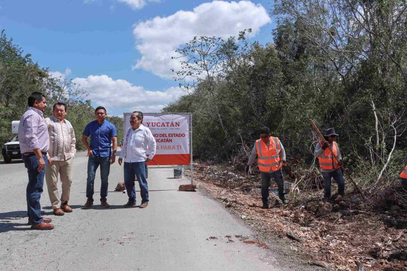
[[[31,54],[13,43],[3,30],[0,35],[0,143],[6,143],[15,135],[11,122],[19,121],[27,108],[28,96],[39,91],[46,95],[48,108],[44,116],[52,115],[52,105],[64,102],[68,106],[67,119],[75,130],[76,148],[84,149],[80,141],[86,124],[95,119],[95,109],[86,93],[67,78],[52,77],[47,68],[34,63]],[[123,138],[123,118],[108,117]]]

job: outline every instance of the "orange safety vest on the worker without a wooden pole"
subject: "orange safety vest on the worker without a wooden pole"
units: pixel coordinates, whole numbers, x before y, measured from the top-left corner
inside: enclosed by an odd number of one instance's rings
[[[256,140],[257,165],[260,171],[277,171],[281,168],[279,142],[278,137],[270,137],[270,146],[268,147],[263,140]]]

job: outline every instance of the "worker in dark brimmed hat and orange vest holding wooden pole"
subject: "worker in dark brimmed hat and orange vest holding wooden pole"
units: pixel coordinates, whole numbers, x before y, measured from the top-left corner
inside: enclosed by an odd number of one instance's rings
[[[343,165],[342,155],[339,150],[338,144],[334,141],[338,134],[335,133],[335,129],[329,128],[325,132],[325,140],[323,143],[319,141],[314,150],[314,156],[318,158],[319,168],[321,170],[322,176],[324,177],[324,198],[329,199],[331,197],[331,180],[335,179],[338,184],[338,195],[345,196],[345,180],[342,175],[340,167]],[[335,156],[338,158],[336,160],[329,150],[332,149]]]

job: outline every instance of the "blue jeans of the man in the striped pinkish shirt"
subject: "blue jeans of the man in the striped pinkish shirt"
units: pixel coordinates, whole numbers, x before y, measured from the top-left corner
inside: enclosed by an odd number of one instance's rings
[[[45,167],[42,171],[38,171],[38,159],[35,155],[26,156],[21,155],[22,160],[24,161],[24,166],[27,169],[28,173],[28,185],[26,189],[27,197],[27,216],[34,225],[39,224],[44,221],[41,217],[41,193],[44,186],[44,176],[45,170],[47,169],[47,156],[42,155],[42,158],[45,161]]]

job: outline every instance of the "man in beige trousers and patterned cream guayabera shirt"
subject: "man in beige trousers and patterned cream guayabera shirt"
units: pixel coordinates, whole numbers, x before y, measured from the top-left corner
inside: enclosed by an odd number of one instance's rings
[[[49,133],[48,155],[50,157],[48,161],[51,161],[47,167],[45,179],[53,213],[55,216],[63,216],[65,213],[72,212],[68,201],[71,192],[73,176],[72,162],[76,153],[76,140],[71,123],[65,119],[67,105],[64,103],[54,104],[52,114],[53,116],[45,118]],[[62,184],[61,201],[56,185],[58,174],[60,175]]]

